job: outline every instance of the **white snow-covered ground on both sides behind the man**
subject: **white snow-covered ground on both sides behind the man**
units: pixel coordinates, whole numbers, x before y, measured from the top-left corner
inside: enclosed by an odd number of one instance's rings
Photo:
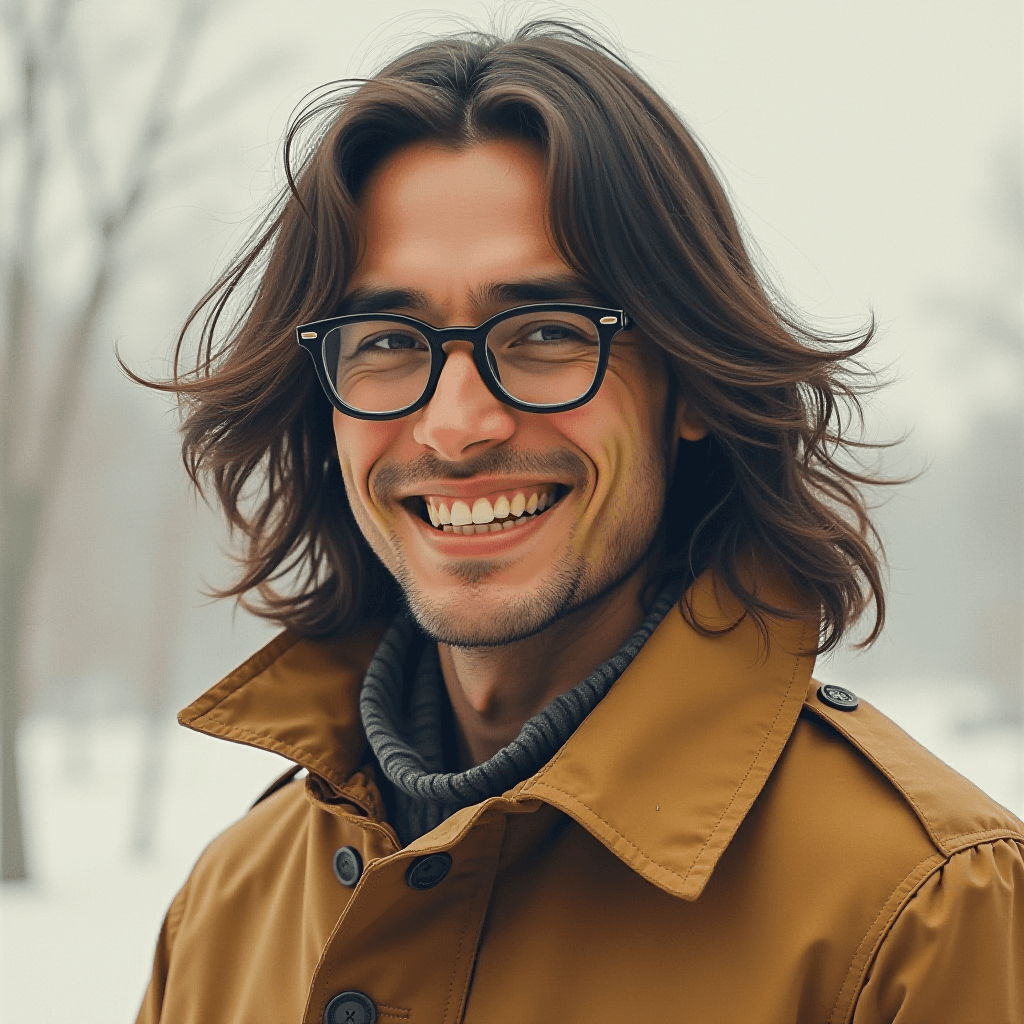
[[[983,687],[920,680],[858,690],[1024,812],[1021,735],[994,719]],[[134,1020],[174,892],[209,840],[287,766],[168,723],[157,733],[164,768],[151,786],[153,849],[133,854],[146,735],[137,718],[94,719],[74,731],[55,717],[27,723],[22,764],[34,878],[0,896],[4,1024]]]

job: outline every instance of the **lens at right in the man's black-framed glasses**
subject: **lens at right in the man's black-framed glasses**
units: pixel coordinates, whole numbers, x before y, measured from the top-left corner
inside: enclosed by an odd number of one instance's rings
[[[510,316],[490,329],[486,346],[502,388],[534,406],[582,398],[597,377],[601,351],[594,324],[568,312]]]

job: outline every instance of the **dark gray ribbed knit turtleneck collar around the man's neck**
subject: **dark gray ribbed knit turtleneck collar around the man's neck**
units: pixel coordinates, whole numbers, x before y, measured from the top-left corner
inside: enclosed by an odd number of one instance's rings
[[[640,628],[607,662],[535,715],[508,746],[463,772],[444,771],[442,716],[450,712],[437,644],[426,644],[407,686],[402,666],[423,635],[408,610],[399,612],[367,669],[359,711],[370,745],[394,787],[391,823],[402,844],[461,807],[500,796],[550,761],[636,657],[680,590],[678,581],[665,587]]]

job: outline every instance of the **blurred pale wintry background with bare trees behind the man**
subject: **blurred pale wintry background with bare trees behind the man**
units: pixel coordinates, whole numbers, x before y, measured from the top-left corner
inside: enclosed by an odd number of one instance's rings
[[[115,345],[169,372],[308,90],[459,18],[545,13],[602,28],[676,105],[791,302],[826,327],[879,317],[893,384],[867,431],[906,433],[885,465],[923,474],[878,496],[886,634],[818,674],[1024,812],[1017,0],[8,0],[4,1020],[63,1020],[69,997],[81,1024],[133,1020],[173,893],[285,767],[174,724],[273,630],[202,596],[230,579],[227,538]]]

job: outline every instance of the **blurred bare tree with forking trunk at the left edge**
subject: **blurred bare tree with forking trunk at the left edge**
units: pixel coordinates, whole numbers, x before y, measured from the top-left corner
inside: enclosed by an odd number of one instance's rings
[[[212,0],[178,0],[174,27],[142,113],[130,132],[120,184],[109,187],[93,125],[82,43],[71,0],[39,6],[9,3],[3,26],[16,54],[17,105],[0,118],[0,145],[16,151],[20,167],[13,226],[2,252],[4,326],[0,351],[0,808],[3,881],[28,876],[17,773],[17,733],[25,700],[25,642],[31,587],[49,509],[60,478],[65,438],[77,412],[96,327],[117,284],[119,256],[154,183],[175,104]],[[34,16],[35,15],[35,16]],[[94,248],[85,292],[66,330],[40,337],[40,222],[47,171],[63,146],[82,185]],[[41,399],[30,381],[30,346],[45,343],[53,358]],[[39,360],[35,360],[38,365]],[[33,444],[33,438],[41,438]],[[31,458],[26,453],[32,452]]]

